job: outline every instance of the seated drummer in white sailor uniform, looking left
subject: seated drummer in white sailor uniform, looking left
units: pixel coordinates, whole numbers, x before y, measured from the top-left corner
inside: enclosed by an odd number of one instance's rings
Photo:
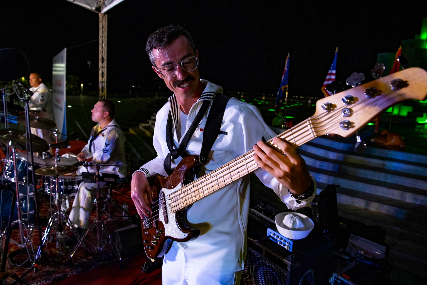
[[[82,172],[96,173],[96,163],[99,163],[99,173],[116,174],[125,178],[125,134],[114,120],[115,107],[113,102],[101,100],[95,104],[92,112],[92,121],[98,124],[92,128],[88,144],[77,154],[79,161],[92,157],[91,166],[79,166],[74,173],[67,175],[82,175]],[[109,166],[106,166],[109,164]],[[103,166],[104,165],[104,166]],[[100,182],[100,188],[105,187],[105,182]],[[82,182],[74,198],[70,211],[70,221],[76,231],[81,235],[88,225],[92,206],[96,197],[97,184]]]

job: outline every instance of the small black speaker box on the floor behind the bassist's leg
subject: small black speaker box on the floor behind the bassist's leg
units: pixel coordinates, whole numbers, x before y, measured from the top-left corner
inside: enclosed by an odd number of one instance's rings
[[[120,257],[128,258],[143,252],[141,226],[132,224],[121,229],[114,230],[114,243],[117,246]]]

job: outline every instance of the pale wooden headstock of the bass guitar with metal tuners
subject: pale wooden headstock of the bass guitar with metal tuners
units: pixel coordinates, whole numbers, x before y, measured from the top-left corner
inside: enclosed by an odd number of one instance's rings
[[[308,123],[316,137],[349,137],[389,107],[405,100],[424,100],[426,96],[427,71],[407,68],[318,100]]]

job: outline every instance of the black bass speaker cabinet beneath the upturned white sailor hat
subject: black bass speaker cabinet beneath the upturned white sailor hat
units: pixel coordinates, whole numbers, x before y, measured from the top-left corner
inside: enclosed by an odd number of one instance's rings
[[[316,227],[315,227],[316,229]],[[249,240],[244,285],[327,285],[333,272],[335,235],[313,231],[292,252],[268,238]]]

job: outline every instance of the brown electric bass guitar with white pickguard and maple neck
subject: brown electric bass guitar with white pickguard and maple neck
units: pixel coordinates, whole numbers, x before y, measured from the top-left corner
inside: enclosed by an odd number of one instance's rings
[[[313,116],[277,137],[295,147],[325,134],[349,137],[392,105],[424,100],[426,95],[427,72],[407,68],[318,100]],[[284,154],[272,140],[267,144]],[[174,240],[184,242],[199,235],[198,229],[190,229],[186,223],[187,206],[257,170],[253,156],[254,151],[249,151],[195,181],[191,179],[193,169],[199,166],[195,155],[185,157],[170,176],[156,174],[152,188],[158,200],[152,205],[151,216],[141,221],[146,255],[154,261]]]

